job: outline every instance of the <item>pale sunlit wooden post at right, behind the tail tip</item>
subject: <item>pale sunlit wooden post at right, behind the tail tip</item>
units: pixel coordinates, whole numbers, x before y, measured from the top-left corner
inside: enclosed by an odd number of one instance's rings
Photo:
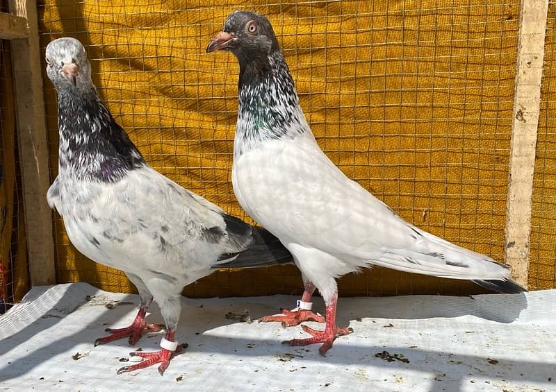
[[[521,0],[514,118],[509,160],[505,262],[527,285],[537,126],[548,0]]]

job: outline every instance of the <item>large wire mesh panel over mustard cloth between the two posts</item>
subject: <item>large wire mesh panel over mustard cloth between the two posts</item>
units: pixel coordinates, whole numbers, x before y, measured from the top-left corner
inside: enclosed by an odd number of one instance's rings
[[[226,15],[241,8],[270,18],[313,133],[347,176],[404,219],[502,259],[518,1],[46,1],[42,46],[79,38],[101,96],[147,161],[249,220],[229,180],[236,61],[204,54]],[[56,99],[49,81],[45,88],[54,178]],[[55,230],[60,282],[131,289],[73,250],[58,216]],[[299,286],[297,271],[280,267],[217,273],[186,292]],[[382,269],[340,286],[344,295],[473,290]]]

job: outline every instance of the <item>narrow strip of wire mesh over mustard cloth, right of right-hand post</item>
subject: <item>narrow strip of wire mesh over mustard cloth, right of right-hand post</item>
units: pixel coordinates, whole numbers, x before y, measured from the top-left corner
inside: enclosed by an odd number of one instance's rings
[[[556,287],[556,3],[548,6],[537,158],[533,178],[530,289]]]

